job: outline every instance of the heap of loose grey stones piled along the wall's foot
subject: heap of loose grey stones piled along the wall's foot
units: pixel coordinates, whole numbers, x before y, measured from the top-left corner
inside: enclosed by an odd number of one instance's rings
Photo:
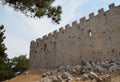
[[[72,82],[74,76],[80,80],[93,80],[96,82],[111,82],[110,75],[100,78],[100,75],[106,74],[106,69],[109,73],[120,70],[120,60],[105,60],[105,61],[82,61],[79,65],[60,66],[55,71],[48,71],[42,74],[44,76],[41,82]],[[59,75],[59,74],[61,75]],[[49,78],[52,77],[52,78]]]

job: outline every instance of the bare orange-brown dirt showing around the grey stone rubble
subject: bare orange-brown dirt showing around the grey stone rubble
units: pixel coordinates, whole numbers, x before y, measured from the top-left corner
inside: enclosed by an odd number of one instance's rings
[[[12,78],[10,80],[4,81],[4,82],[40,82],[41,80],[41,74],[46,71],[46,70],[28,70],[26,72],[28,72],[26,74],[23,73],[15,78]],[[79,77],[80,78],[80,77]],[[76,80],[76,78],[73,78],[72,82],[95,82],[95,80],[87,80],[87,81],[81,81],[81,80]],[[113,73],[112,74],[112,82],[120,82],[120,74],[117,73]]]

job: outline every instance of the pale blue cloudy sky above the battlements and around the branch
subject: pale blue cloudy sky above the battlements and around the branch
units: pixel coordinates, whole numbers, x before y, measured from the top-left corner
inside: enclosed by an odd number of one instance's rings
[[[61,5],[63,9],[59,25],[53,24],[47,17],[28,18],[9,6],[0,5],[0,25],[3,24],[6,29],[5,45],[8,57],[12,58],[21,54],[27,54],[29,57],[30,41],[64,27],[66,24],[71,24],[75,20],[79,22],[83,16],[88,18],[91,12],[96,15],[100,8],[106,11],[111,3],[120,5],[119,0],[56,0],[53,5]]]

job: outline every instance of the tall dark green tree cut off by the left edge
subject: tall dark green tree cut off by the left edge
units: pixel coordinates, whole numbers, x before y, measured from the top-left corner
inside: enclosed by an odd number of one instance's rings
[[[0,81],[9,79],[13,77],[13,72],[11,66],[9,65],[9,61],[7,58],[7,54],[5,53],[6,47],[3,43],[5,36],[4,36],[4,26],[0,26]]]

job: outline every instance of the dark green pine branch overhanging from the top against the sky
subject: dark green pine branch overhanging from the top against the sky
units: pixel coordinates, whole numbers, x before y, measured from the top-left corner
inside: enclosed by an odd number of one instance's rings
[[[61,6],[52,6],[55,0],[2,0],[3,4],[9,4],[16,11],[21,11],[26,16],[42,17],[47,16],[55,23],[61,20]]]

